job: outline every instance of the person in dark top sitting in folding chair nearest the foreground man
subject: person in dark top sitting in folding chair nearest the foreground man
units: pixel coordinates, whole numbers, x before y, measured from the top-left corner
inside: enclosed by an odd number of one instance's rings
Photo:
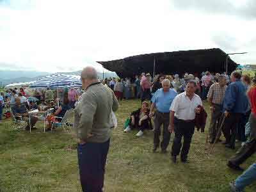
[[[72,109],[72,107],[69,105],[68,97],[64,97],[63,103],[61,104],[61,106],[58,109],[56,109],[56,111],[54,113],[52,113],[52,115],[47,116],[48,124],[47,124],[46,131],[51,131],[52,122],[61,122],[61,118],[64,117],[65,113],[69,109]],[[58,117],[60,117],[60,118],[58,118]]]

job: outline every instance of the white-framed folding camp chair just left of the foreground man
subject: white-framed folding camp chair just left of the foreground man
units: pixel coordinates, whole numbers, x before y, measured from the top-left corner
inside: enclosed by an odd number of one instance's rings
[[[67,129],[71,130],[71,127],[73,124],[72,124],[72,121],[70,121],[68,118],[72,116],[74,116],[74,109],[67,110],[63,118],[60,116],[54,116],[55,120],[60,120],[60,122],[52,121],[52,128],[56,126],[56,127],[63,127],[64,131],[66,131]]]

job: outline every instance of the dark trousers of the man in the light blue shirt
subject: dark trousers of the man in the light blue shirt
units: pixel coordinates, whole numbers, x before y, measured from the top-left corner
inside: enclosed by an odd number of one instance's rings
[[[155,112],[154,117],[154,146],[159,147],[161,125],[163,125],[163,141],[161,142],[161,149],[166,150],[169,145],[171,134],[168,131],[168,125],[170,122],[170,113]]]

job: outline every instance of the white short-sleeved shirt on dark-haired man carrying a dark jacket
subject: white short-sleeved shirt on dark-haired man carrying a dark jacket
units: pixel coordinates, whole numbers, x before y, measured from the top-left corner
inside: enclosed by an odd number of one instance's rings
[[[200,97],[195,94],[190,100],[186,92],[184,92],[175,97],[170,111],[174,111],[174,116],[180,120],[194,120],[196,116],[195,108],[198,106],[203,106]]]

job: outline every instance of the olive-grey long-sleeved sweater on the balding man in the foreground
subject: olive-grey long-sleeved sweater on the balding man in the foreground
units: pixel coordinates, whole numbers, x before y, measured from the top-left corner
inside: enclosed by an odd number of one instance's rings
[[[116,111],[118,102],[110,88],[101,83],[89,86],[75,109],[77,137],[86,142],[104,143],[111,136],[111,111]],[[88,138],[88,134],[93,136]]]

